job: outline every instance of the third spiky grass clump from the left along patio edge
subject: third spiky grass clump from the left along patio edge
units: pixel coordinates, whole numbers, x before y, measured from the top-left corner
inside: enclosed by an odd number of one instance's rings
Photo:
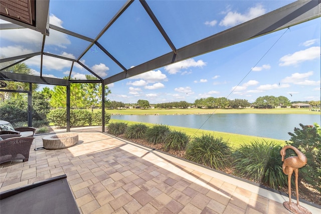
[[[145,139],[153,144],[164,143],[170,132],[169,126],[156,124],[147,129]]]

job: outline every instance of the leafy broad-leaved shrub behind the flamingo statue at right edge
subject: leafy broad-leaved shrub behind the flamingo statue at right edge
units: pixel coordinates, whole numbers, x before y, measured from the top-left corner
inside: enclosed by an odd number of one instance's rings
[[[320,126],[304,126],[294,128],[294,133],[288,133],[291,138],[287,142],[299,149],[307,158],[307,164],[299,169],[299,178],[321,191],[321,132]],[[292,150],[290,155],[296,155]]]

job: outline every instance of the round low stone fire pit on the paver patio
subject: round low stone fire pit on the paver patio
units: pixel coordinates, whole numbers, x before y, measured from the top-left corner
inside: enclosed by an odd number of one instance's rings
[[[63,133],[42,138],[45,149],[63,149],[78,143],[78,134]]]

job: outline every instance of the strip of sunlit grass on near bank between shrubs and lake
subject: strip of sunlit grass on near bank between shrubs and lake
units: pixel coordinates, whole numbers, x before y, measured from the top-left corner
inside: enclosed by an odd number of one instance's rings
[[[123,121],[123,120],[115,120],[115,119],[110,119],[109,121],[109,123],[116,123],[116,122],[124,122],[124,123],[127,123],[128,125],[138,123],[133,121]],[[150,123],[142,123],[142,124],[145,124],[146,126],[149,126],[149,127],[153,126],[153,124],[150,124]],[[285,141],[272,139],[272,138],[262,138],[262,137],[239,135],[239,134],[226,133],[226,132],[214,132],[209,130],[198,130],[198,129],[192,129],[192,128],[177,127],[177,126],[169,126],[169,127],[171,130],[184,132],[188,136],[191,136],[192,138],[201,136],[203,134],[212,134],[215,137],[221,137],[224,141],[228,141],[229,144],[234,148],[238,148],[240,147],[240,145],[243,145],[244,143],[248,143],[251,141],[261,141],[261,140],[274,141],[276,144],[280,144],[282,146],[285,145]]]

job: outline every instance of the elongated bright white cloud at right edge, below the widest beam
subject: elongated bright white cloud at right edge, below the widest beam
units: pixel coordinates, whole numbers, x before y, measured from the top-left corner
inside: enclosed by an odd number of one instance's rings
[[[298,63],[317,59],[320,57],[320,47],[310,47],[305,50],[297,51],[293,54],[287,54],[280,58],[279,66],[297,65]]]

